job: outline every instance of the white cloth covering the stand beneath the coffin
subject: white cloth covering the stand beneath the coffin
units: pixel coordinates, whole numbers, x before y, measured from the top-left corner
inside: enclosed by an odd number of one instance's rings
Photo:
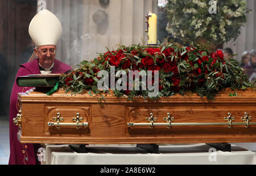
[[[159,145],[159,154],[132,145],[87,145],[88,153],[76,153],[68,145],[47,145],[46,164],[75,165],[216,165],[256,164],[255,152],[232,144],[232,152],[207,144]]]

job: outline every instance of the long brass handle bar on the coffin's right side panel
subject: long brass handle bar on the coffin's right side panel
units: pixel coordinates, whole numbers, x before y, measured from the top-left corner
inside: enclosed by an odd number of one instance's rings
[[[231,128],[233,125],[245,125],[245,127],[249,127],[249,125],[256,125],[256,122],[250,122],[251,116],[248,116],[247,112],[245,112],[245,116],[242,117],[243,122],[233,122],[235,119],[234,116],[230,112],[228,112],[228,117],[225,117],[224,119],[227,122],[201,122],[201,123],[172,123],[174,121],[174,117],[171,118],[171,114],[167,113],[167,118],[163,118],[163,120],[166,120],[167,123],[154,123],[156,118],[153,118],[152,113],[150,113],[151,118],[147,118],[149,123],[127,123],[127,127],[142,127],[142,126],[150,126],[150,128],[153,128],[155,126],[167,126],[167,128],[171,128],[172,126],[201,126],[201,125],[228,125],[228,128]]]

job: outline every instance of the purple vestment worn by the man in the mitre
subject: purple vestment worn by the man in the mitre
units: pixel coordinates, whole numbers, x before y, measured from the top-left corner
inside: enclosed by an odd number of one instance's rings
[[[72,70],[71,66],[64,64],[59,60],[54,60],[54,66],[51,73],[65,73]],[[20,65],[16,78],[18,76],[26,76],[27,74],[40,74],[38,58],[32,62],[27,62]],[[10,114],[9,114],[9,127],[10,127],[10,165],[33,165],[36,164],[36,151],[34,144],[21,144],[17,139],[18,126],[13,123],[13,119],[18,114],[18,93],[26,92],[32,87],[19,87],[16,84],[16,78],[11,91],[10,97]]]

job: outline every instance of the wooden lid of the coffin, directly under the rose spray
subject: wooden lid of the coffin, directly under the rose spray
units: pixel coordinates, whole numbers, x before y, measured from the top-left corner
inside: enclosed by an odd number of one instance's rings
[[[230,93],[236,93],[237,96],[230,97]],[[125,97],[115,97],[113,93],[104,94],[105,103],[255,103],[256,91],[254,89],[246,90],[231,90],[229,88],[219,91],[214,97],[214,100],[208,100],[206,97],[200,97],[195,93],[187,93],[185,95],[175,94],[172,97],[160,97],[156,100],[143,99],[143,97],[135,97],[133,101],[127,100]],[[100,98],[100,96],[98,97]],[[30,93],[18,93],[18,99],[22,102],[82,102],[82,103],[98,103],[98,99],[89,94],[73,94],[65,93],[64,90],[59,90],[52,95],[46,95],[42,91],[34,90]]]

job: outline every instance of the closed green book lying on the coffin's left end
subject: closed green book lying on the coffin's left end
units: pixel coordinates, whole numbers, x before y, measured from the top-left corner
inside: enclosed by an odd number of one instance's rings
[[[29,74],[16,79],[20,87],[52,87],[59,81],[61,74]]]

